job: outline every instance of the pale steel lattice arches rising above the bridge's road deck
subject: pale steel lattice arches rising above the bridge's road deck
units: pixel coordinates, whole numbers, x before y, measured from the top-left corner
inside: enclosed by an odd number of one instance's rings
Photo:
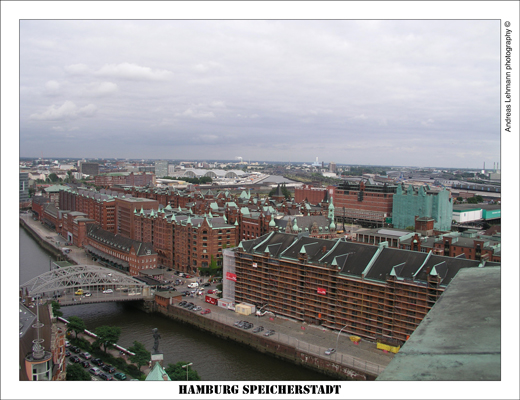
[[[131,276],[96,265],[72,265],[56,268],[20,285],[24,294],[34,296],[66,289],[112,288],[143,289],[145,283]],[[142,290],[139,290],[142,291]]]

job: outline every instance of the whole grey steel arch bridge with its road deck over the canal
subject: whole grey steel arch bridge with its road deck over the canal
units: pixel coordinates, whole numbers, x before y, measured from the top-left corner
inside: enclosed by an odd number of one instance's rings
[[[150,287],[121,272],[97,265],[72,265],[45,272],[20,285],[23,296],[58,298],[61,305],[140,300]],[[82,289],[82,294],[77,294]],[[103,291],[111,289],[111,293]]]

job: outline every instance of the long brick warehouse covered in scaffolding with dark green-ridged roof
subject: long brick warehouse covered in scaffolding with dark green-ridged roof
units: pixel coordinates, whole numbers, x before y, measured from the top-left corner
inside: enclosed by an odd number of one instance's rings
[[[271,232],[224,257],[224,297],[297,321],[402,343],[462,268],[486,263]]]

